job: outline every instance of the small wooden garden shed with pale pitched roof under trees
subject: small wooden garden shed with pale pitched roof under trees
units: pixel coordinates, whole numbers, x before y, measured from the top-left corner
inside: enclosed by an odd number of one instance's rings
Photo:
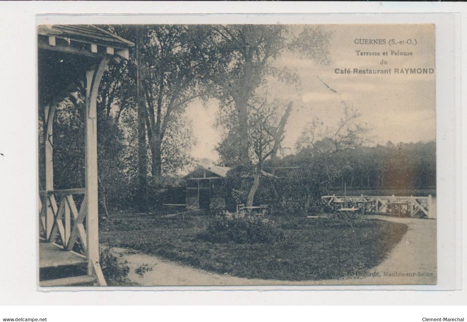
[[[226,206],[226,176],[231,168],[198,165],[186,180],[186,204],[191,209]]]

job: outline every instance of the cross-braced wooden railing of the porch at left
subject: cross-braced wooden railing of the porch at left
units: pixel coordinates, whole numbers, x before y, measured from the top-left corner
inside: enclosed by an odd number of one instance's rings
[[[88,241],[85,228],[87,202],[85,193],[85,188],[40,191],[40,238],[55,242],[58,237],[57,244],[64,250],[74,250],[86,255]],[[73,195],[83,196],[79,210]],[[81,241],[80,247],[75,247],[78,238]]]

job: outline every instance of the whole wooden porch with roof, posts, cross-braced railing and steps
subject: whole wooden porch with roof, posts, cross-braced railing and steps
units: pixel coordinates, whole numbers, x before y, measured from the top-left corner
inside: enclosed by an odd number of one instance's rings
[[[45,144],[45,189],[39,194],[39,269],[66,268],[55,275],[59,278],[52,273],[52,278],[39,284],[106,286],[99,264],[96,105],[108,63],[118,62],[120,57],[128,59],[134,44],[93,25],[41,25],[37,37],[38,111],[42,113]],[[54,114],[57,104],[76,92],[78,85],[85,88],[85,187],[57,190],[53,178]],[[87,266],[87,274],[64,276],[73,266]]]

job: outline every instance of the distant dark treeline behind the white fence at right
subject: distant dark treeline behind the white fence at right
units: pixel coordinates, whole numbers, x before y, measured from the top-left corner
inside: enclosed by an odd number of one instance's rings
[[[331,171],[327,190],[378,189],[410,190],[436,187],[436,143],[388,142],[385,146],[356,147],[335,152],[325,159],[313,157],[308,149],[288,155],[276,167],[309,167],[313,161],[327,162]],[[272,167],[274,169],[274,167]],[[293,169],[276,169],[284,175]]]

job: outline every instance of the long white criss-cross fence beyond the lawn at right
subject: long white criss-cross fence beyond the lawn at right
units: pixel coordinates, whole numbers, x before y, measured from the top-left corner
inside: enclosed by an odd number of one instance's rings
[[[322,196],[323,204],[333,210],[343,207],[362,207],[368,204],[376,214],[433,217],[432,196]]]

